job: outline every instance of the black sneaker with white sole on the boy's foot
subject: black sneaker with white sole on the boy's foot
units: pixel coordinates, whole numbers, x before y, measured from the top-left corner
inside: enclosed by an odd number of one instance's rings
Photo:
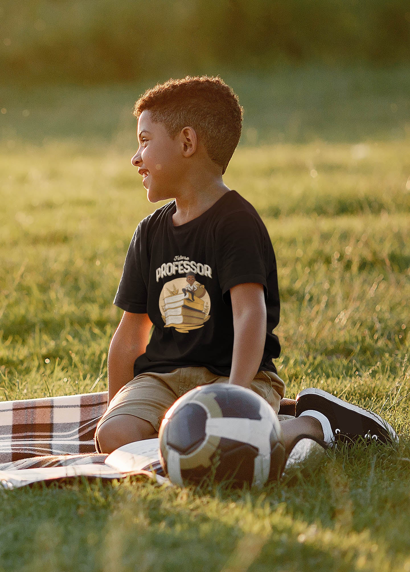
[[[333,442],[352,443],[363,438],[369,443],[398,443],[396,431],[379,415],[347,403],[326,391],[309,388],[296,396],[296,417],[302,411],[319,411],[331,424]]]

